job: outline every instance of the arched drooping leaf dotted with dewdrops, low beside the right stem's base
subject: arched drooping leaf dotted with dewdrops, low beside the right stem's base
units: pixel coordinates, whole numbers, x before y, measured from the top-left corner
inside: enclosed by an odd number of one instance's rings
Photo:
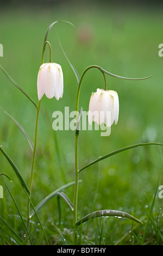
[[[76,225],[80,225],[92,218],[97,218],[97,217],[109,217],[109,216],[115,216],[115,217],[124,217],[124,218],[129,218],[131,221],[139,222],[142,224],[140,220],[137,218],[131,216],[130,214],[127,214],[127,212],[124,211],[116,211],[116,210],[100,210],[100,211],[94,211],[91,214],[86,215],[83,217],[80,221],[76,223]]]

